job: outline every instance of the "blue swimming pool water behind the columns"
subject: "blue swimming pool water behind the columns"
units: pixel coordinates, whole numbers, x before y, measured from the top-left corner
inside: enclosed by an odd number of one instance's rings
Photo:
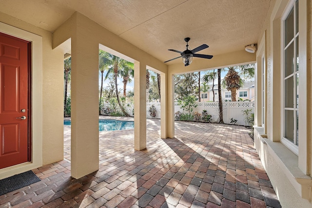
[[[70,120],[64,120],[64,125],[71,125]],[[99,131],[116,131],[124,129],[133,129],[135,127],[134,121],[117,121],[112,119],[98,120]]]

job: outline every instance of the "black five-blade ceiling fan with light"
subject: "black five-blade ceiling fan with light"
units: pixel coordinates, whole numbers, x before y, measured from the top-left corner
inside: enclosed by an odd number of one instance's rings
[[[195,53],[195,52],[199,52],[201,50],[204,50],[204,49],[208,48],[209,46],[206,45],[206,44],[202,44],[201,46],[198,46],[197,48],[195,48],[193,50],[190,50],[189,49],[189,41],[190,41],[190,39],[191,38],[189,38],[189,37],[184,38],[184,40],[186,42],[186,49],[185,49],[184,52],[180,52],[180,51],[177,51],[177,50],[174,50],[174,49],[168,49],[169,51],[180,53],[181,56],[178,56],[176,58],[173,58],[173,59],[170,59],[168,61],[165,61],[164,63],[182,57],[184,66],[186,67],[186,66],[189,66],[191,64],[191,62],[193,61],[193,57],[207,58],[207,59],[211,59],[213,57],[213,55],[205,55],[205,54],[197,54],[197,53]]]

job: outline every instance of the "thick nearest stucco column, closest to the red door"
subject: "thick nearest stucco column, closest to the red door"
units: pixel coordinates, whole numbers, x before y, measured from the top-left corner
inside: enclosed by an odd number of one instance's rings
[[[72,37],[71,84],[71,174],[80,178],[99,161],[98,43],[82,29]]]

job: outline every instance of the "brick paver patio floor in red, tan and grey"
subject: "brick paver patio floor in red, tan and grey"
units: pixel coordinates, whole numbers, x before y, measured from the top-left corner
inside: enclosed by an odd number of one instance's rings
[[[133,129],[100,132],[99,170],[80,179],[64,127],[64,160],[33,170],[41,181],[1,195],[0,208],[281,207],[245,127],[177,121],[176,138],[160,139],[160,120],[147,122],[144,151]]]

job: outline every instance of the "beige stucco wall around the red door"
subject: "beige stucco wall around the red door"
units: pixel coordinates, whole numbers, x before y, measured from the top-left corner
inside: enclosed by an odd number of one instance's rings
[[[52,49],[52,34],[48,31],[1,12],[0,22],[42,37],[41,53],[43,61],[41,60],[40,66],[42,71],[37,72],[38,68],[32,69],[34,78],[32,80],[32,102],[33,106],[36,106],[33,109],[33,114],[36,114],[36,117],[32,129],[33,135],[40,135],[39,139],[41,141],[33,142],[32,148],[42,153],[39,166],[61,160],[63,158],[63,53]],[[23,36],[20,36],[20,38],[23,38]],[[37,77],[38,75],[40,77]],[[41,82],[41,84],[38,85],[38,82]],[[38,90],[39,93],[37,93]],[[40,106],[37,106],[37,104],[40,104]],[[27,163],[18,166],[26,167],[29,165]],[[34,167],[32,166],[32,168]],[[10,170],[13,173],[18,173],[21,169],[10,167]],[[4,171],[1,170],[2,173]]]

